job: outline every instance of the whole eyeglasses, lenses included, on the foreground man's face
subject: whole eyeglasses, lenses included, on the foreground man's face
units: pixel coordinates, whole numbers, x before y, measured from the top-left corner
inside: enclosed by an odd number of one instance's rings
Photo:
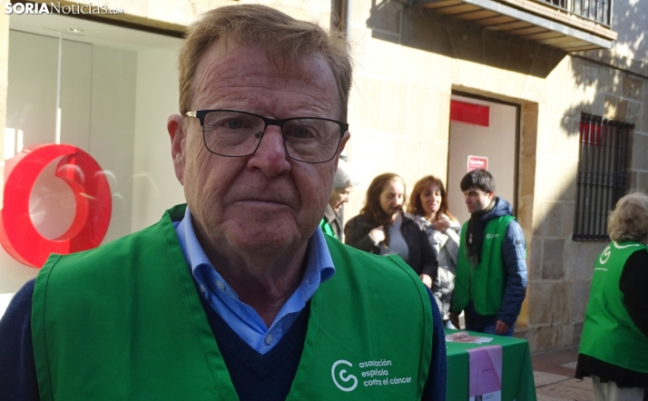
[[[349,123],[319,117],[273,120],[236,110],[198,110],[188,116],[201,121],[207,150],[225,157],[249,156],[257,152],[270,125],[280,127],[283,145],[290,159],[307,163],[332,160],[338,152]]]

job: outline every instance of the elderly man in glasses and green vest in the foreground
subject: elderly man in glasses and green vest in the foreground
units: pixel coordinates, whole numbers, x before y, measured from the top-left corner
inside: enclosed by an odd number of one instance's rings
[[[193,25],[180,60],[167,127],[187,205],[48,259],[0,324],[0,396],[445,399],[430,293],[318,228],[349,140],[346,43],[237,5]]]

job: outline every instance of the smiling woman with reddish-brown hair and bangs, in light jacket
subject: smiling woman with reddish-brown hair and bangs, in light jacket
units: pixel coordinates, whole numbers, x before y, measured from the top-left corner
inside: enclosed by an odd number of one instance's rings
[[[450,323],[450,304],[452,290],[455,289],[461,224],[447,209],[447,192],[443,182],[433,175],[418,180],[409,197],[407,211],[423,223],[435,251],[438,270],[432,293],[437,298],[444,326],[454,328]]]

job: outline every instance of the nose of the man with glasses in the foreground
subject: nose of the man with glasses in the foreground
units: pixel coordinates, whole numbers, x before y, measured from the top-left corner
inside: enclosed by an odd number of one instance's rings
[[[259,148],[251,155],[248,168],[259,169],[268,177],[290,171],[290,161],[280,127],[269,126],[261,134]]]

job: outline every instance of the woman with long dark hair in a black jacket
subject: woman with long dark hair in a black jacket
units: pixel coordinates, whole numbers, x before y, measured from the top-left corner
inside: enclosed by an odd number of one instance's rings
[[[369,184],[365,207],[344,227],[345,243],[377,255],[397,254],[430,287],[437,278],[437,258],[427,233],[414,215],[403,211],[405,181],[393,172]]]

